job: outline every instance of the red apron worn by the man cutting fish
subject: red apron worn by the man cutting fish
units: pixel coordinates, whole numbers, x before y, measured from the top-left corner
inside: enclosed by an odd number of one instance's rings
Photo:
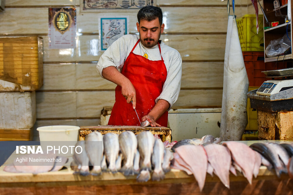
[[[166,81],[167,69],[161,54],[160,44],[158,43],[162,60],[151,61],[133,53],[139,41],[140,39],[125,60],[121,73],[131,81],[135,88],[136,111],[141,121],[142,117],[149,114],[156,105],[156,98],[161,94]],[[166,127],[168,111],[156,122]],[[132,104],[126,102],[125,97],[122,95],[121,87],[118,85],[115,88],[115,104],[108,125],[140,126]]]

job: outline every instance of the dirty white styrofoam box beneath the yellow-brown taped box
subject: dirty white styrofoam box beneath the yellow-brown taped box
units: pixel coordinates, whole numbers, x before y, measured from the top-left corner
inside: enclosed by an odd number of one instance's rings
[[[35,91],[0,93],[0,128],[29,129],[36,121]]]

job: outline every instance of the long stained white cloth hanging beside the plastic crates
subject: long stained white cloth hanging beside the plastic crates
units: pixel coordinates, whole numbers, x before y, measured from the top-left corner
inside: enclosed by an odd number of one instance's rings
[[[224,85],[220,137],[222,141],[240,140],[248,123],[248,76],[233,16],[228,17],[224,59]]]

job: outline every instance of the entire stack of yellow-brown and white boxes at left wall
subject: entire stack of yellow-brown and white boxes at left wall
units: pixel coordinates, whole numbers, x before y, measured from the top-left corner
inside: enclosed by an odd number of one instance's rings
[[[42,38],[0,38],[0,140],[32,139],[42,84]]]

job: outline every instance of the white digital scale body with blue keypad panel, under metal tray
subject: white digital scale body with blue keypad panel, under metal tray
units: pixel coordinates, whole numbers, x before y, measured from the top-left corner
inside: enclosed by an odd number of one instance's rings
[[[258,95],[270,96],[280,91],[285,91],[293,88],[293,80],[269,80],[265,81],[256,91]]]

